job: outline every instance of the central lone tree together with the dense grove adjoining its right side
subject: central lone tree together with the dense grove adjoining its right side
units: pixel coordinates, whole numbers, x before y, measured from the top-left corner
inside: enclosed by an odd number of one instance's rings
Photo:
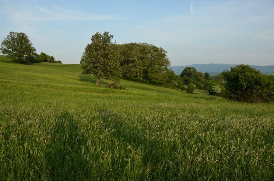
[[[80,60],[83,74],[100,78],[121,77],[137,82],[182,87],[182,80],[168,67],[167,52],[147,43],[116,44],[108,32],[91,37]]]

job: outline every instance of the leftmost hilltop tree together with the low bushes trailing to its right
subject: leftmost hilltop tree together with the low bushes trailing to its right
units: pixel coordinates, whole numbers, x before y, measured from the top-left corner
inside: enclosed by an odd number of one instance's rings
[[[9,32],[9,35],[2,41],[0,50],[3,55],[17,63],[25,63],[26,61],[61,63],[60,60],[55,61],[53,56],[43,52],[38,55],[30,43],[29,37],[22,32]]]

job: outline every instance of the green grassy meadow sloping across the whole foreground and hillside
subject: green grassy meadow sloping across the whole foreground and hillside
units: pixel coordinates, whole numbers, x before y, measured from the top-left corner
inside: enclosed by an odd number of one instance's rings
[[[273,180],[274,104],[0,56],[0,180]]]

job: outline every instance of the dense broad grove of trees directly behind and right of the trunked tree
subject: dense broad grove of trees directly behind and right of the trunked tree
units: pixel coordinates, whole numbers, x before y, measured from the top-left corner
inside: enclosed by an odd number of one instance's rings
[[[117,45],[122,77],[138,82],[167,85],[165,74],[170,72],[167,52],[147,43]]]

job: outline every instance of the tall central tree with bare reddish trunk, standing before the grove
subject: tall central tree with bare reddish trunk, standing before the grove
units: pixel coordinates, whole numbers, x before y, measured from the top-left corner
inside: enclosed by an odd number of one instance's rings
[[[112,43],[113,35],[108,32],[97,32],[91,36],[91,43],[85,48],[83,72],[85,75],[94,75],[97,78],[96,85],[100,79],[111,79],[121,75],[121,68],[116,52],[116,42]]]

